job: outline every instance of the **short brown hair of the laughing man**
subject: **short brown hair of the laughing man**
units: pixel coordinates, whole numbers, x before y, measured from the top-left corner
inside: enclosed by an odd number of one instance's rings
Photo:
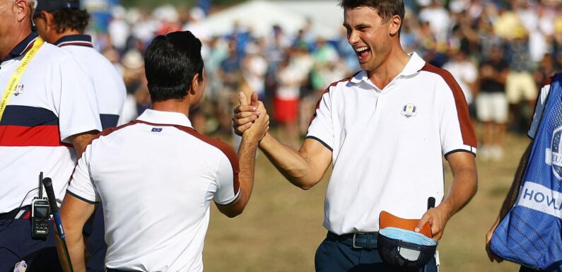
[[[382,23],[387,23],[392,16],[400,16],[400,19],[404,21],[404,1],[402,0],[340,0],[339,6],[342,8],[359,8],[366,6],[373,8],[377,11],[380,18],[382,18]],[[402,29],[402,25],[400,25]]]

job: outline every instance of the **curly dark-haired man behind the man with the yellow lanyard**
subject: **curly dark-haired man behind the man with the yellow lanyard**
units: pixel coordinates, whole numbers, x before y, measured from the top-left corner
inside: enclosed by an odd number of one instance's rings
[[[126,95],[123,77],[113,64],[93,48],[85,35],[90,15],[76,0],[39,1],[33,20],[37,33],[52,45],[69,52],[81,64],[94,85],[103,129],[117,126]],[[86,224],[85,235],[90,258],[88,272],[103,272],[107,246],[103,239],[103,208],[98,206]]]

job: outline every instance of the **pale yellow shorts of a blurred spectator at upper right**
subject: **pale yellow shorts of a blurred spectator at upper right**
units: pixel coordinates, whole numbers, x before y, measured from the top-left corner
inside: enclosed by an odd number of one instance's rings
[[[537,99],[537,85],[529,72],[509,72],[505,80],[505,95],[510,104]]]

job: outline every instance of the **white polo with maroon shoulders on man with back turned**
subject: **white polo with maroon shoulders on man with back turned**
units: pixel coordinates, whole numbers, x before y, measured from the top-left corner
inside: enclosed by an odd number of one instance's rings
[[[146,110],[86,148],[68,192],[103,203],[106,266],[202,271],[211,199],[238,197],[238,158],[184,114]]]

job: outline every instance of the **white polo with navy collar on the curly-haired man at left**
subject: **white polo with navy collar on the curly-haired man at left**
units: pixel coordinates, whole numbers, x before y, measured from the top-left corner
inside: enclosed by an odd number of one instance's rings
[[[54,43],[70,52],[92,78],[103,129],[117,126],[127,90],[123,77],[109,60],[95,51],[90,35],[67,35]]]

